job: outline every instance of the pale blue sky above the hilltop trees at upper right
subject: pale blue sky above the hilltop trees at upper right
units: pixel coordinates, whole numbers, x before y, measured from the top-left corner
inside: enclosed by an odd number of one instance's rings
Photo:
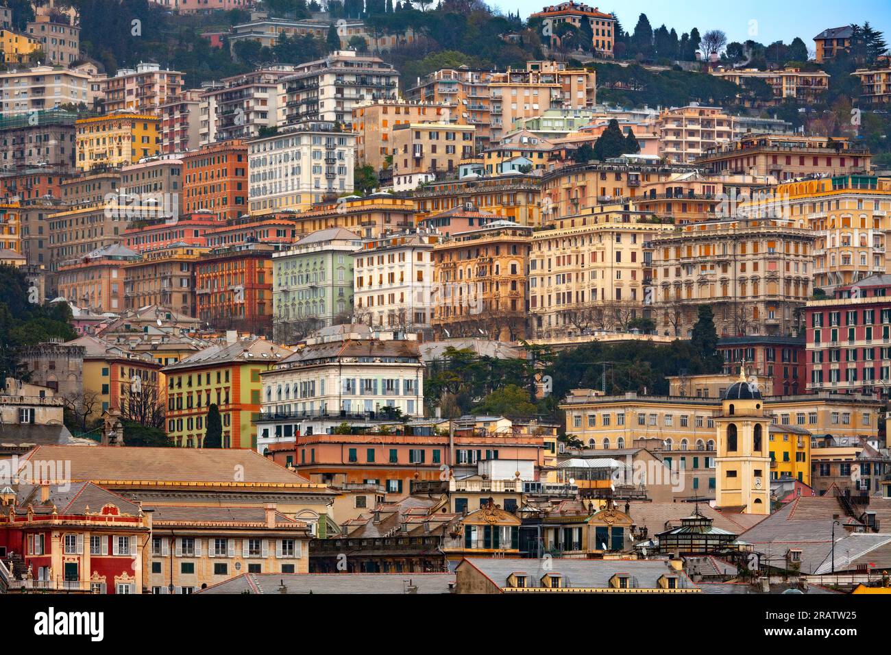
[[[517,12],[525,19],[530,13],[539,12],[546,4],[559,4],[560,0],[489,0],[503,12]],[[709,29],[722,29],[727,40],[740,43],[751,38],[771,44],[784,41],[789,44],[801,37],[809,50],[813,50],[813,37],[826,28],[870,21],[873,28],[885,32],[891,43],[891,2],[889,0],[854,0],[853,2],[828,2],[826,0],[586,0],[601,12],[615,12],[622,28],[634,31],[638,16],[647,14],[653,29],[665,23],[669,30],[683,32],[698,28],[699,34]],[[753,35],[754,32],[754,35]]]

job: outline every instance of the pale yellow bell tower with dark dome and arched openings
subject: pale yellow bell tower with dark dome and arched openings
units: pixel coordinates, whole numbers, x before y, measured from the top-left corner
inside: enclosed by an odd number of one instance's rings
[[[715,506],[746,514],[769,514],[771,460],[767,434],[770,419],[755,384],[740,380],[727,389],[721,401],[722,415],[715,417]]]

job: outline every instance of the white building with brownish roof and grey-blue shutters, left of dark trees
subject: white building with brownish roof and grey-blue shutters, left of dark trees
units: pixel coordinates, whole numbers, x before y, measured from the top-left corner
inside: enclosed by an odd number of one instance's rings
[[[418,343],[365,325],[325,328],[316,339],[260,373],[257,451],[298,435],[421,417],[424,364]],[[387,409],[391,408],[391,409]]]

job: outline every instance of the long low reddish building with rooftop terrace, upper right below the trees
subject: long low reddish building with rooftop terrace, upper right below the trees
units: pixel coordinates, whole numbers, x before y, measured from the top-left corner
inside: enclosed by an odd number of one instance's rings
[[[869,172],[869,149],[826,136],[748,135],[702,149],[697,164],[713,175],[772,175],[781,182],[806,176]]]

